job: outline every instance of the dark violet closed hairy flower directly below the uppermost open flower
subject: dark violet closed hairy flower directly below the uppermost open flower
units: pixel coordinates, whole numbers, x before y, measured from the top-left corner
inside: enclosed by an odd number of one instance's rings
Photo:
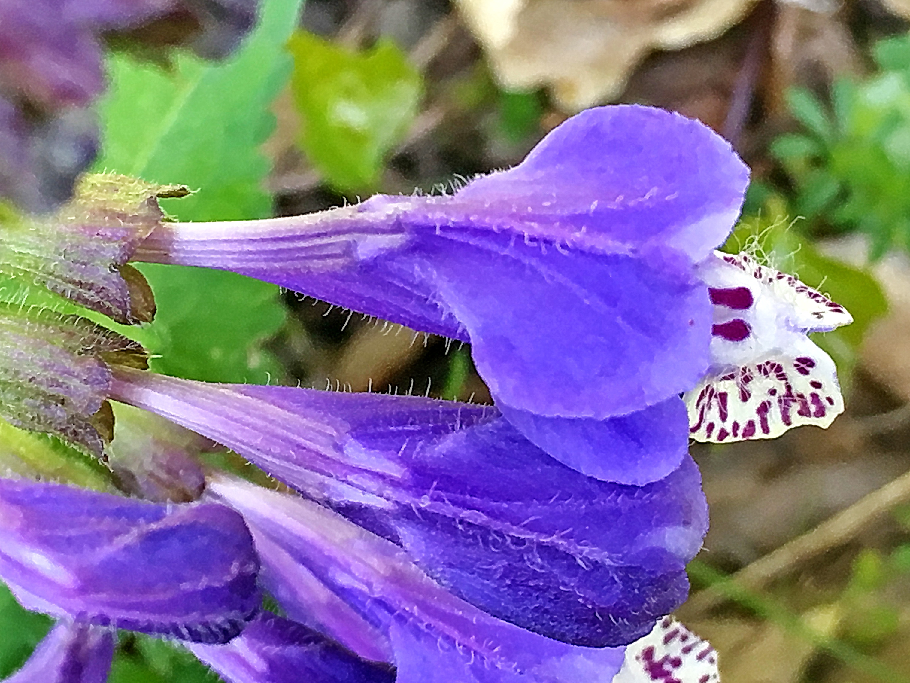
[[[688,456],[653,484],[602,482],[490,407],[127,370],[111,397],[224,443],[399,544],[468,602],[566,642],[647,633],[685,598],[707,529]]]

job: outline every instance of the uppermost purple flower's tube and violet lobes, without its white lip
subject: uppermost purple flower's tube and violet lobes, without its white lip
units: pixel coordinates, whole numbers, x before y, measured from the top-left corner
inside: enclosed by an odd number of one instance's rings
[[[695,266],[747,179],[696,121],[600,107],[450,196],[165,224],[134,259],[236,270],[471,342],[527,438],[584,474],[646,484],[686,453],[679,394],[708,371],[713,324]]]

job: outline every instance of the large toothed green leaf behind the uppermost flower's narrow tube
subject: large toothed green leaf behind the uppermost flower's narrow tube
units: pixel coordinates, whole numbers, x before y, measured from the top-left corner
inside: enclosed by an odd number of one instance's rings
[[[221,64],[179,55],[168,71],[114,56],[101,103],[98,168],[155,181],[177,178],[197,193],[163,206],[183,220],[256,219],[271,214],[259,146],[274,126],[268,106],[286,83],[284,44],[301,0],[267,0],[258,27]],[[144,266],[157,319],[120,331],[160,357],[158,372],[220,382],[267,382],[277,363],[258,351],[283,321],[278,288],[204,269]]]

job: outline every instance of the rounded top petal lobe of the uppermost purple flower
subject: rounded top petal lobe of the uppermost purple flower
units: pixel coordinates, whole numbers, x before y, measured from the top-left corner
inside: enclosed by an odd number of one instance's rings
[[[593,107],[552,130],[517,167],[470,182],[425,222],[568,250],[670,247],[697,261],[726,239],[748,181],[729,143],[699,121],[652,107]]]

